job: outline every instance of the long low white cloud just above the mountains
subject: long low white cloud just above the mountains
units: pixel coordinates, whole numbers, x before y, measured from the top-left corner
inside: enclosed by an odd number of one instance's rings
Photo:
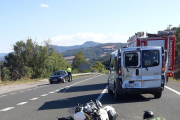
[[[61,35],[51,38],[51,44],[58,46],[81,45],[86,41],[99,43],[126,43],[128,37],[121,34],[103,33],[77,33],[74,35]]]

